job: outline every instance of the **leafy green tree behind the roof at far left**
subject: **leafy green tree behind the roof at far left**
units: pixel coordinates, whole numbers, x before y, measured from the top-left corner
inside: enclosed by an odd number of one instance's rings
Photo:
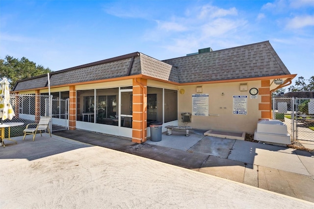
[[[8,78],[11,89],[15,86],[18,80],[50,72],[52,71],[49,68],[44,68],[42,65],[36,65],[35,62],[29,61],[26,57],[22,57],[19,60],[6,55],[4,59],[0,59],[0,78]]]

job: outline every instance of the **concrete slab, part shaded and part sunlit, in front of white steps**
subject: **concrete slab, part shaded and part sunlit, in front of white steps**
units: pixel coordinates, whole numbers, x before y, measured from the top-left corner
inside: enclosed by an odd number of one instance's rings
[[[287,153],[278,150],[289,150]],[[277,150],[274,152],[273,150]],[[292,150],[292,154],[290,153]],[[310,176],[294,150],[278,146],[236,141],[228,159]],[[293,165],[293,166],[291,166]]]

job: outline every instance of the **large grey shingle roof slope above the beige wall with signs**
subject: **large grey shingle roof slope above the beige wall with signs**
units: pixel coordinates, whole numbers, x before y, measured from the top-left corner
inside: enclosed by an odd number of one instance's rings
[[[268,41],[163,62],[178,68],[180,83],[290,74]]]

